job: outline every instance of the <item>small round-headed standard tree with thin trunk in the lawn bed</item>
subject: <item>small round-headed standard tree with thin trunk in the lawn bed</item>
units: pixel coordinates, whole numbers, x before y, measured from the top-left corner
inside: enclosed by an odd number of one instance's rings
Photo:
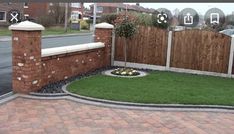
[[[123,21],[116,25],[115,32],[119,37],[124,37],[124,67],[127,64],[127,42],[136,33],[136,24],[129,21],[126,16]]]

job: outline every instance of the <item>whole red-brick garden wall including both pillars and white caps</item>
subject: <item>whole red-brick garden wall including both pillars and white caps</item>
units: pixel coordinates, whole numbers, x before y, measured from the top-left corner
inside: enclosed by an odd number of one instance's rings
[[[43,50],[43,26],[24,21],[9,29],[12,30],[14,92],[38,91],[47,84],[111,65],[113,26],[110,24],[96,25],[96,43]]]

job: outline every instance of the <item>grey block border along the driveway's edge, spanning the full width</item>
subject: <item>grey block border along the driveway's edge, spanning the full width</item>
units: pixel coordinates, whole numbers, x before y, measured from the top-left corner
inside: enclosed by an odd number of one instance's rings
[[[165,111],[165,112],[215,112],[215,113],[234,113],[234,107],[230,106],[192,106],[189,105],[155,105],[154,106],[143,106],[143,105],[123,105],[123,104],[114,104],[107,102],[98,102],[94,100],[87,100],[85,98],[79,98],[78,95],[71,95],[71,93],[64,96],[34,96],[34,95],[23,95],[23,94],[13,94],[7,98],[0,100],[0,105],[5,104],[9,101],[12,101],[18,97],[26,98],[26,99],[36,99],[36,100],[70,100],[77,103],[99,106],[99,107],[107,107],[107,108],[115,108],[115,109],[129,109],[129,110],[144,110],[144,111]],[[110,101],[109,101],[110,102]]]

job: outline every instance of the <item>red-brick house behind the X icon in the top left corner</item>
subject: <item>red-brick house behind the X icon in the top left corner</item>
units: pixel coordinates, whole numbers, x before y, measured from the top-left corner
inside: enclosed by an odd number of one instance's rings
[[[11,10],[17,10],[23,15],[23,3],[0,3],[0,26],[10,25],[7,20],[7,13]]]

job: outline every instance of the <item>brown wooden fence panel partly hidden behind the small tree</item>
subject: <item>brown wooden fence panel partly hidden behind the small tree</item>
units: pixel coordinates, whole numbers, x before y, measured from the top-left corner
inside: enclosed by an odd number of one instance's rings
[[[128,42],[127,61],[152,65],[166,65],[168,32],[155,27],[138,27]],[[124,61],[124,39],[116,37],[115,60]]]

